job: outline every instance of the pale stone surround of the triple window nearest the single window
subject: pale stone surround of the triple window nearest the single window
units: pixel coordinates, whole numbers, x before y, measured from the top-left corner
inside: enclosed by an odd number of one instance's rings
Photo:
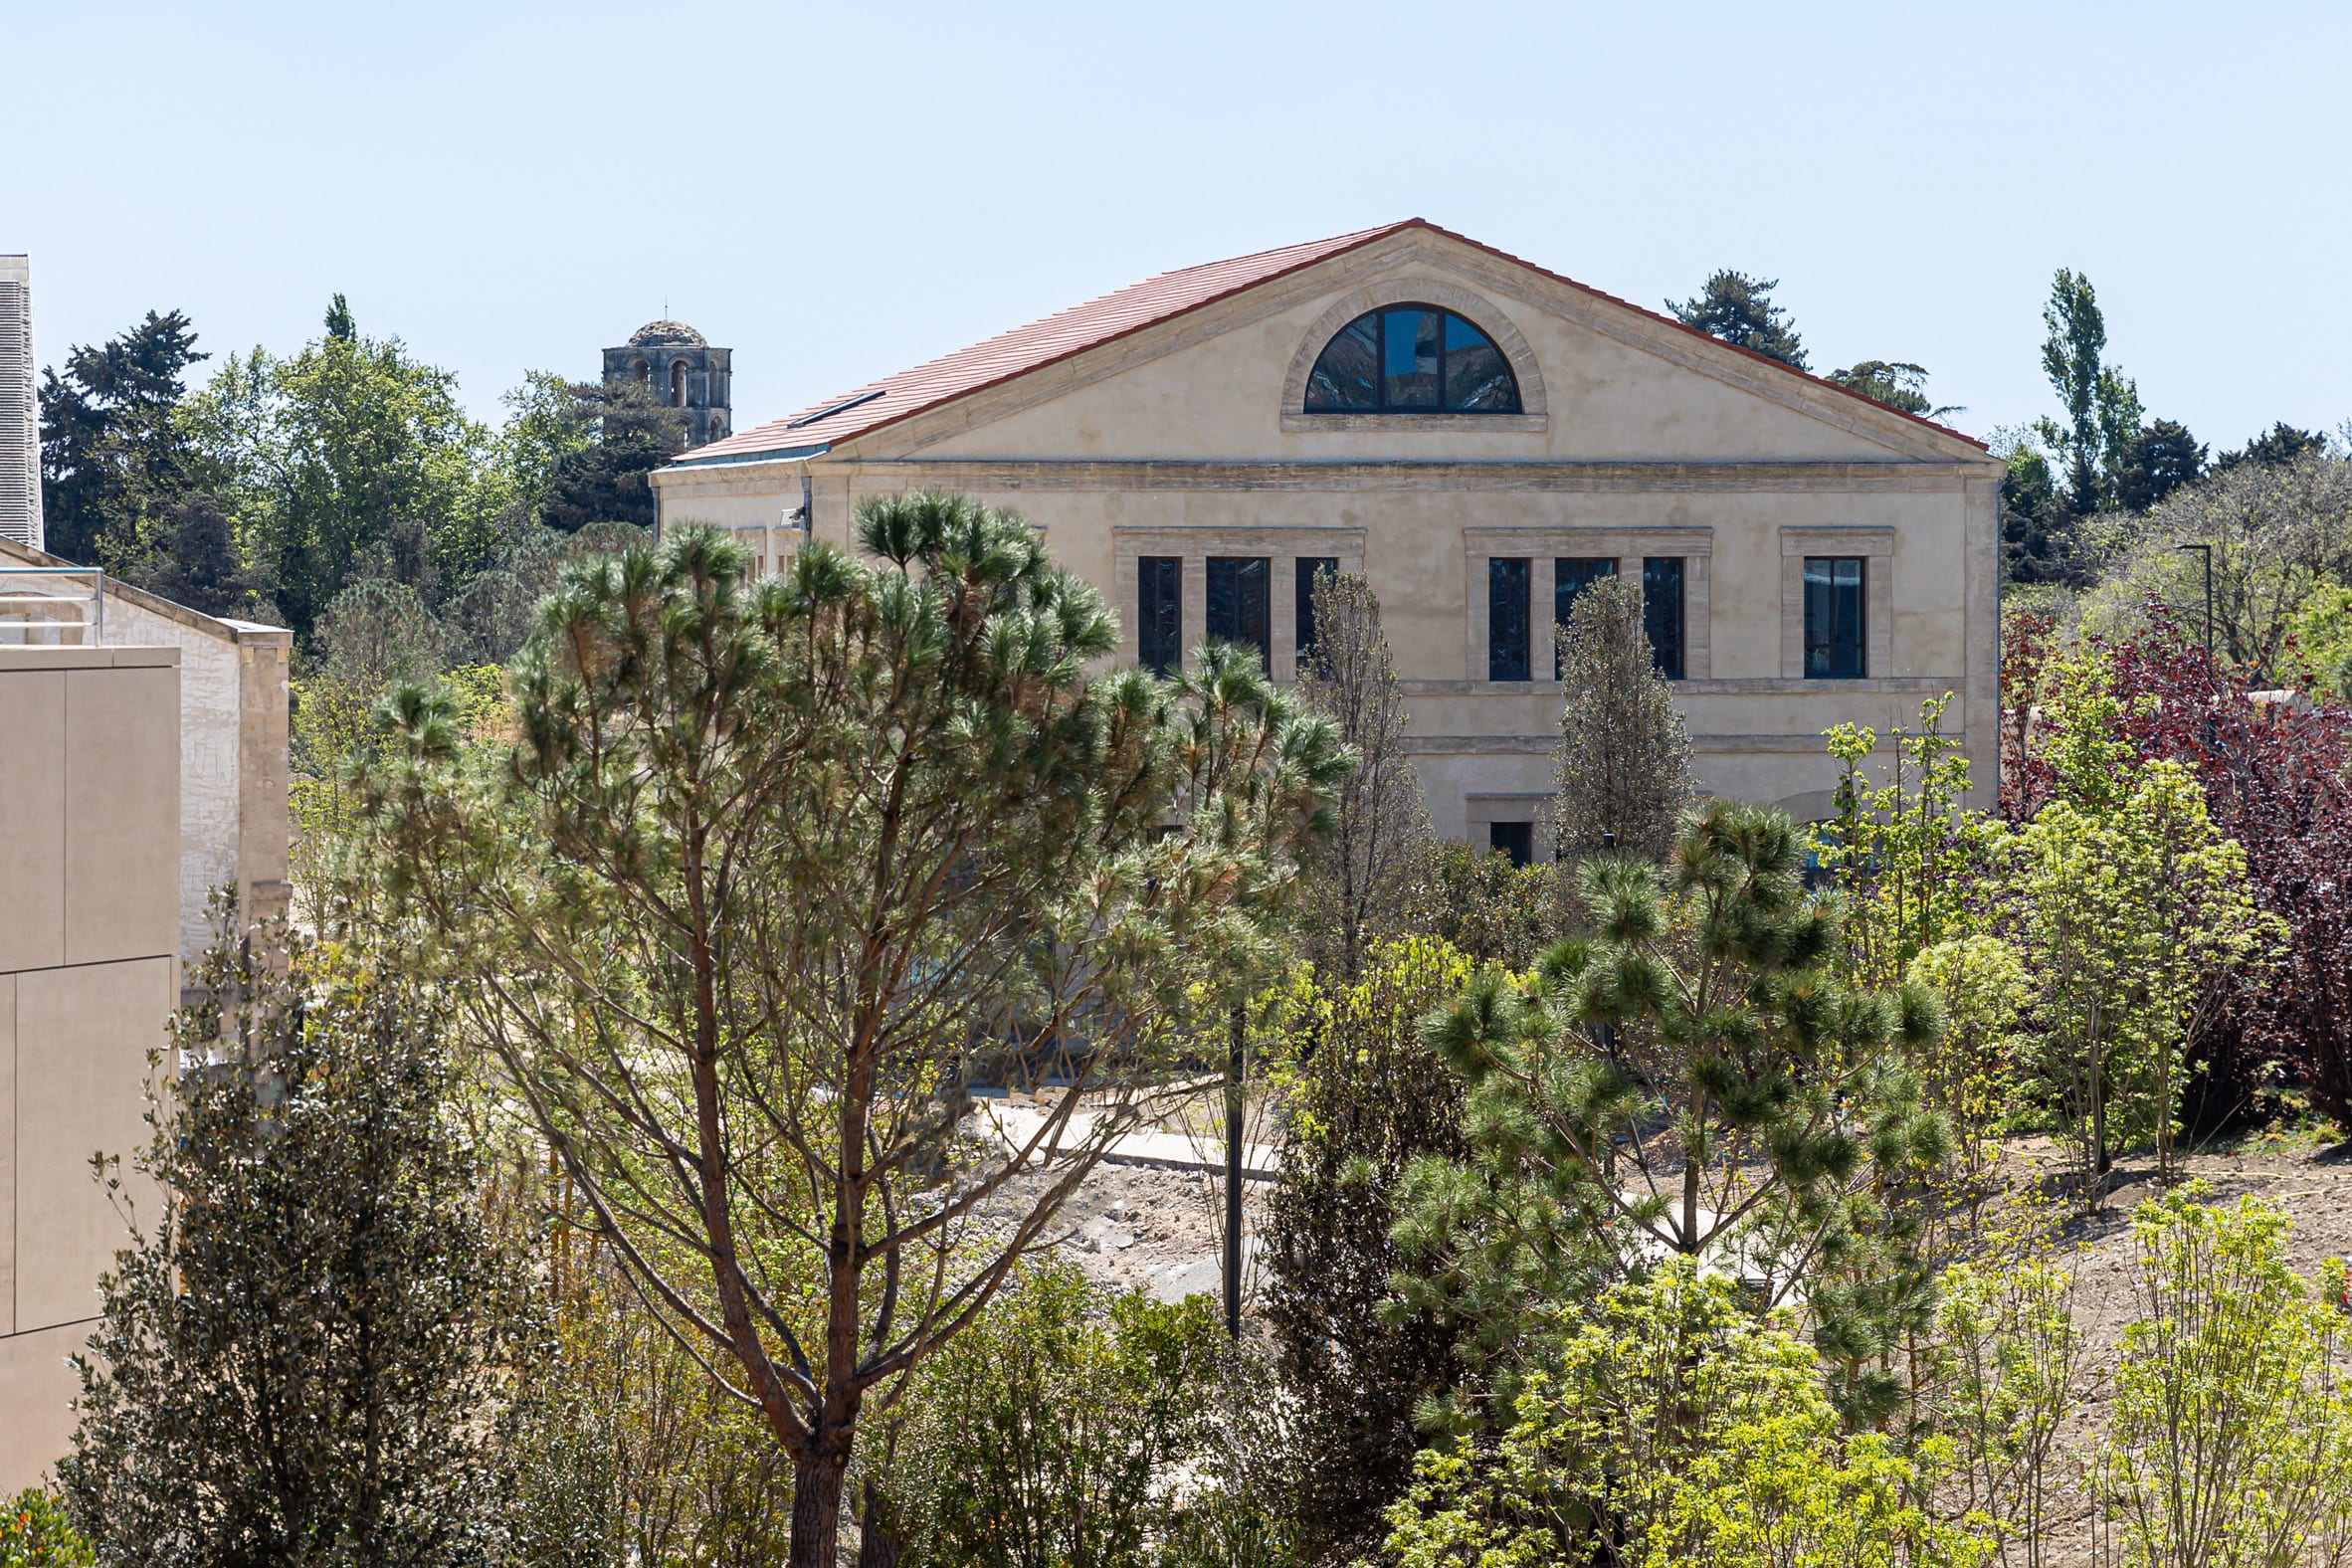
[[[1494,555],[1531,557],[1531,609],[1534,646],[1529,646],[1529,675],[1524,682],[1486,679],[1486,559]],[[1538,691],[1559,686],[1552,670],[1559,668],[1557,642],[1552,637],[1550,609],[1557,602],[1557,562],[1566,557],[1613,555],[1618,576],[1642,581],[1642,562],[1651,555],[1679,555],[1682,569],[1682,679],[1677,686],[1708,679],[1715,672],[1712,637],[1708,635],[1710,578],[1715,559],[1712,527],[1472,527],[1463,529],[1463,583],[1468,592],[1468,625],[1463,637],[1463,675],[1470,691]],[[1797,562],[1804,576],[1804,559]],[[1802,588],[1802,583],[1799,583]],[[1804,625],[1797,628],[1799,644]],[[1802,649],[1799,649],[1802,658]]]

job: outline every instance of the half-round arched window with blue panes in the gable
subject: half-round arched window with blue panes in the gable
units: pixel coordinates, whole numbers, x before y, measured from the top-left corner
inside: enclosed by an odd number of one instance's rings
[[[1451,310],[1385,306],[1324,343],[1305,411],[1517,414],[1519,383],[1494,339]]]

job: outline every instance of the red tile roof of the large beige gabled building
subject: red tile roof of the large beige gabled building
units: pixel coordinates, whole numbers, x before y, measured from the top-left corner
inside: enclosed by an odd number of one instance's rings
[[[903,369],[896,376],[884,376],[882,381],[868,381],[861,388],[851,388],[849,393],[842,393],[837,397],[826,397],[823,402],[811,402],[809,407],[788,414],[783,418],[771,418],[764,425],[755,425],[739,435],[729,435],[727,440],[710,442],[708,447],[696,447],[684,458],[680,458],[680,463],[684,465],[729,463],[729,461],[743,463],[783,451],[837,447],[840,442],[847,442],[851,437],[868,435],[884,425],[894,425],[903,418],[913,418],[915,414],[922,414],[927,409],[936,409],[943,402],[969,397],[971,393],[985,390],[1002,381],[1011,381],[1014,376],[1025,376],[1035,369],[1044,369],[1056,360],[1068,360],[1073,355],[1087,353],[1089,348],[1101,348],[1103,343],[1112,343],[1134,331],[1143,331],[1145,327],[1155,327],[1188,310],[1197,310],[1202,306],[1221,301],[1230,294],[1240,294],[1263,282],[1272,282],[1277,277],[1284,277],[1287,273],[1315,266],[1317,261],[1329,261],[1331,256],[1352,252],[1362,244],[1371,244],[1374,240],[1385,240],[1388,235],[1395,235],[1406,228],[1425,228],[1449,240],[1458,240],[1461,244],[1482,249],[1489,256],[1496,256],[1512,266],[1522,266],[1531,273],[1541,273],[1543,277],[1569,284],[1571,289],[1592,294],[1595,299],[1606,299],[1609,303],[1623,306],[1625,310],[1635,310],[1679,331],[1689,331],[1691,336],[1708,339],[1717,348],[1729,348],[1731,353],[1748,355],[1759,364],[1771,364],[1778,371],[1799,376],[1816,386],[1825,386],[1835,393],[1844,393],[1846,397],[1858,397],[1860,402],[1867,402],[1872,409],[1882,409],[1886,414],[1900,414],[1903,418],[1922,423],[1940,435],[1952,435],[1957,440],[1964,440],[1971,447],[1985,444],[1947,425],[1919,418],[1917,414],[1903,414],[1900,409],[1889,409],[1875,397],[1865,397],[1863,393],[1842,388],[1835,381],[1809,376],[1806,371],[1792,369],[1788,364],[1780,364],[1778,360],[1752,353],[1748,348],[1738,348],[1736,343],[1722,343],[1719,339],[1710,339],[1696,327],[1684,327],[1670,315],[1658,315],[1656,310],[1642,310],[1642,306],[1616,299],[1613,294],[1602,294],[1599,289],[1581,284],[1573,277],[1562,277],[1559,273],[1538,268],[1531,261],[1522,261],[1519,256],[1498,252],[1491,244],[1479,244],[1468,235],[1456,235],[1454,230],[1439,228],[1428,219],[1404,219],[1402,223],[1385,223],[1381,228],[1359,228],[1352,235],[1336,235],[1331,240],[1310,240],[1305,244],[1287,244],[1282,249],[1258,252],[1256,256],[1235,256],[1232,261],[1209,261],[1204,266],[1190,266],[1176,273],[1160,273],[1157,277],[1145,277],[1143,282],[1129,284],[1112,294],[1103,294],[1101,299],[1089,299],[1084,306],[1070,306],[1068,310],[1058,310],[1044,317],[1042,322],[1030,322],[1028,327],[1014,327],[1011,331],[1000,331],[985,343],[974,343],[971,348],[962,348],[941,360],[917,364],[915,369]]]

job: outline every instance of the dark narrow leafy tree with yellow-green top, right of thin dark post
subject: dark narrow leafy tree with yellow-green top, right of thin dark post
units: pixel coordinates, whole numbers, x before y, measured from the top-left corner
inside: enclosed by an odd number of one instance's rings
[[[1282,1175],[1268,1199],[1265,1321],[1296,1401],[1284,1455],[1291,1519],[1315,1561],[1371,1540],[1381,1507],[1411,1481],[1414,1408],[1458,1375],[1437,1312],[1395,1312],[1388,1279],[1397,1185],[1421,1157],[1461,1161],[1461,1079],[1416,1025],[1470,978],[1432,938],[1376,947],[1355,980],[1324,980],[1294,1030],[1296,1081]]]

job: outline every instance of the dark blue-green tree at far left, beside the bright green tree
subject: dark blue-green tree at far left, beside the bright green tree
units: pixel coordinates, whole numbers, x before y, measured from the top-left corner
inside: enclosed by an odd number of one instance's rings
[[[113,574],[141,567],[174,508],[200,484],[176,414],[207,355],[179,310],[99,348],[66,350],[40,381],[40,489],[54,555]]]

